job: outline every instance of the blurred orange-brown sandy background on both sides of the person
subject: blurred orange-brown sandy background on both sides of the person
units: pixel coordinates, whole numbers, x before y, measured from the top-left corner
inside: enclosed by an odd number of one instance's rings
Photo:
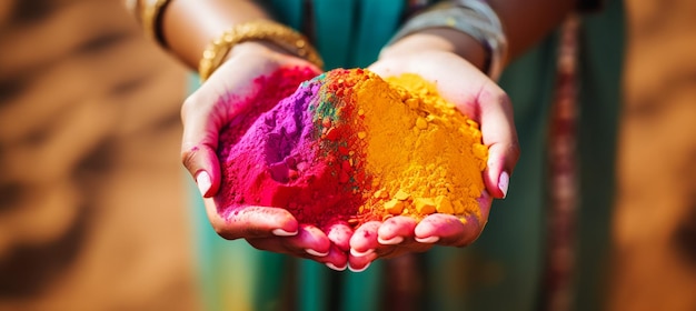
[[[626,0],[610,310],[696,310],[696,1]],[[0,1],[0,310],[200,310],[187,70],[120,0]]]

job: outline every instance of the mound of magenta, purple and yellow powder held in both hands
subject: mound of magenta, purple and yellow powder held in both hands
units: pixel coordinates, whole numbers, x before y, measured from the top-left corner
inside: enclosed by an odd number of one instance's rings
[[[416,74],[336,69],[247,119],[221,134],[221,209],[284,208],[320,228],[480,215],[488,151],[478,124]]]

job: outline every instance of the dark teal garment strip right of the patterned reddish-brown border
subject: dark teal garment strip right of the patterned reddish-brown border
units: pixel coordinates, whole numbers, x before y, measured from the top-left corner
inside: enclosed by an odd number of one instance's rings
[[[588,16],[580,36],[580,214],[576,310],[600,310],[609,274],[610,223],[622,98],[625,16],[622,1],[607,1]]]

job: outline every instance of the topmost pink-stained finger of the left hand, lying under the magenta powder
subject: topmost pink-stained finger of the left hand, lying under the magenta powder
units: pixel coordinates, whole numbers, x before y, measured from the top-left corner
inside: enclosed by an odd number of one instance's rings
[[[285,209],[239,207],[219,210],[212,198],[203,199],[203,203],[212,228],[228,240],[298,234],[297,220]]]

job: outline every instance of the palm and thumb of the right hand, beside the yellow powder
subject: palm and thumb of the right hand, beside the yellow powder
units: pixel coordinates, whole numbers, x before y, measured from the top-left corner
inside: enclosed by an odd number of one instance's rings
[[[382,58],[369,67],[386,78],[417,73],[437,86],[443,98],[480,124],[488,147],[484,182],[495,199],[505,198],[509,175],[519,158],[513,106],[498,84],[459,56],[446,51],[419,51]]]

